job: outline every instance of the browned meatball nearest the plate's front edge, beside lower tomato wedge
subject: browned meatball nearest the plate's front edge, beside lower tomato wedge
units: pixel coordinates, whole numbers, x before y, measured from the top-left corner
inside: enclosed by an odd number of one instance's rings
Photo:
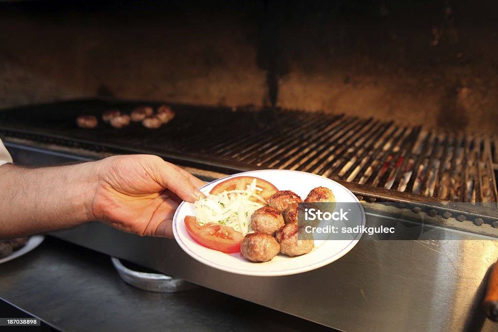
[[[267,262],[280,251],[277,240],[266,233],[249,233],[241,243],[241,254],[253,262]]]

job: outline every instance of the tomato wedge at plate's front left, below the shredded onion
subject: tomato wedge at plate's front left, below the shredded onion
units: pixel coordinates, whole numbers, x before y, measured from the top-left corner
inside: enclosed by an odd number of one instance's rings
[[[197,243],[226,253],[241,251],[244,235],[234,228],[213,222],[201,226],[193,216],[185,217],[184,222],[188,233]]]

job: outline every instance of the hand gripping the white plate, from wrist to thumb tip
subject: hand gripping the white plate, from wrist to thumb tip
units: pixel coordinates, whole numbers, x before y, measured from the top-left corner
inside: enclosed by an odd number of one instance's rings
[[[92,167],[94,220],[138,235],[173,237],[172,218],[182,200],[194,202],[205,185],[154,155],[102,159]]]

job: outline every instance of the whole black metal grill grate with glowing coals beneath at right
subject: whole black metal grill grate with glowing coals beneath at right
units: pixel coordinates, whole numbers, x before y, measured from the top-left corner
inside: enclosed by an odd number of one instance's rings
[[[206,170],[306,171],[394,201],[498,199],[498,139],[480,134],[344,114],[184,105],[173,105],[176,118],[158,130],[139,124],[124,129],[100,124],[93,130],[74,125],[81,113],[100,116],[108,109],[129,111],[137,105],[143,103],[71,101],[14,109],[0,112],[0,131],[96,151],[155,153]]]

